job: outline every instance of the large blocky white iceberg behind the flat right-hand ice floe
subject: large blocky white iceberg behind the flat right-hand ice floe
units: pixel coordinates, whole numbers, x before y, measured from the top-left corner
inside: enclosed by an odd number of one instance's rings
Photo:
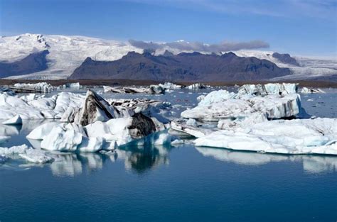
[[[262,113],[268,119],[289,118],[303,112],[296,84],[243,85],[237,94],[212,91],[199,97],[198,106],[181,113],[183,118],[200,121],[247,118]]]

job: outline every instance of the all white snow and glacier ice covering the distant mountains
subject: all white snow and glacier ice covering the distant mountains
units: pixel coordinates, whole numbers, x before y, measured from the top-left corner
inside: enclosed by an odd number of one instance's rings
[[[22,60],[33,52],[48,50],[46,55],[48,69],[31,74],[16,75],[11,79],[65,79],[79,67],[82,62],[91,57],[92,60],[119,60],[127,52],[143,52],[128,42],[103,40],[84,36],[23,34],[0,38],[0,62],[15,62]],[[165,48],[178,54],[176,48]],[[184,51],[189,52],[189,51]],[[158,50],[156,55],[164,53]],[[203,53],[203,52],[202,52]],[[300,66],[281,62],[274,57],[272,51],[238,50],[234,53],[240,57],[257,57],[274,62],[279,67],[289,67],[293,74],[279,79],[308,79],[327,77],[337,74],[337,58],[331,60],[308,57],[294,57]]]

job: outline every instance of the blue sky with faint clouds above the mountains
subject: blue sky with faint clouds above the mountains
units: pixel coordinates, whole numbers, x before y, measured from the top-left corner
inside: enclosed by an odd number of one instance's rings
[[[337,0],[0,0],[0,35],[21,33],[337,57]]]

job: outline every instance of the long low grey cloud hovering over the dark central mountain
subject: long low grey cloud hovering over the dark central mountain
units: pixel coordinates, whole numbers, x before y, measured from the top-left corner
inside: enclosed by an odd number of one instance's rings
[[[200,42],[186,42],[183,40],[172,43],[153,43],[140,40],[129,40],[129,43],[134,47],[150,50],[163,50],[171,48],[181,51],[196,51],[196,52],[227,52],[235,50],[252,50],[258,48],[269,48],[269,44],[262,40],[252,40],[250,42],[228,42],[223,41],[219,44],[206,44]]]

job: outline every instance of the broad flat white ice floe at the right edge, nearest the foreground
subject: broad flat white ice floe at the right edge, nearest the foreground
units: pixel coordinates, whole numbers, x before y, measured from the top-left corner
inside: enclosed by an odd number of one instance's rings
[[[244,128],[215,131],[196,146],[283,154],[337,155],[337,119],[264,121]]]

